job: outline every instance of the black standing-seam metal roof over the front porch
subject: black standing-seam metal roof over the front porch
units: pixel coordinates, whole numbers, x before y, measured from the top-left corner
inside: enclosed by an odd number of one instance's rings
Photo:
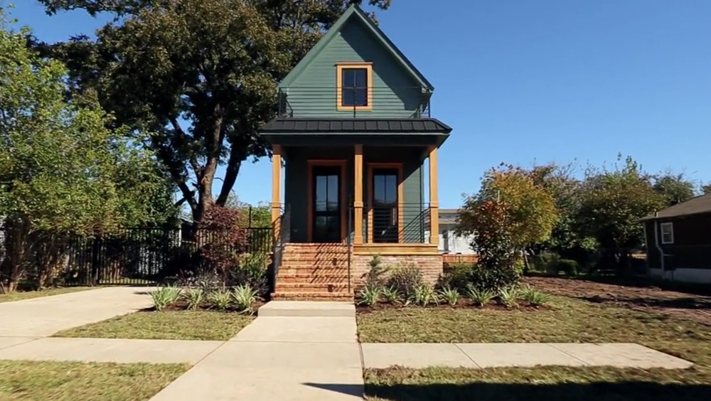
[[[262,134],[390,133],[449,134],[451,127],[434,118],[276,118],[264,124]]]

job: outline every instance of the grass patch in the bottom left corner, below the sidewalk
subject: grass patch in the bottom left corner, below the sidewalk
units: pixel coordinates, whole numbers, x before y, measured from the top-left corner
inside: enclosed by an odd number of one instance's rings
[[[188,365],[0,361],[0,401],[141,401]]]

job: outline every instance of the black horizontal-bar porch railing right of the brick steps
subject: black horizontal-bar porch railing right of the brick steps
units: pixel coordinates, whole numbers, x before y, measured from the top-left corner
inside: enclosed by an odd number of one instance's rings
[[[427,244],[430,235],[427,203],[366,204],[363,242]]]

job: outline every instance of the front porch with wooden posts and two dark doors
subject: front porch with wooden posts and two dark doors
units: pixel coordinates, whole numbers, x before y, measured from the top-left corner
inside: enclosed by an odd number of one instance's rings
[[[275,240],[348,245],[356,255],[437,254],[437,150],[274,144]]]

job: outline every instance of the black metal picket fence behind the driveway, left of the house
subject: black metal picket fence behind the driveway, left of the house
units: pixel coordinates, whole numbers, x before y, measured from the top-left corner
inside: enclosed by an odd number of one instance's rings
[[[177,227],[124,228],[92,237],[45,235],[43,240],[53,246],[28,245],[31,252],[23,260],[28,267],[23,279],[41,279],[48,270],[42,261],[52,257],[55,263],[49,268],[61,285],[150,285],[205,267],[202,254],[208,247],[235,256],[272,252],[271,228],[245,228],[236,238],[234,233],[228,237],[225,232]],[[49,248],[54,255],[46,254]],[[0,260],[4,257],[0,255]]]

